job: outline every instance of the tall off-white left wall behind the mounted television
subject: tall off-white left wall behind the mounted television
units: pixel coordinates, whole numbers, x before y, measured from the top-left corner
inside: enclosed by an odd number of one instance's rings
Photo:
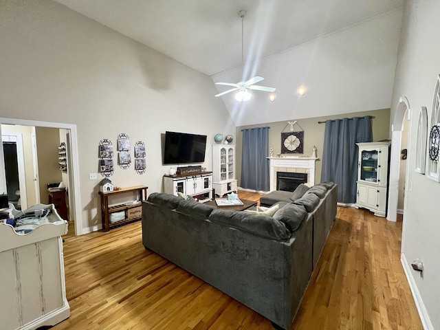
[[[53,1],[0,3],[0,117],[76,124],[83,226],[100,225],[98,144],[126,133],[146,145],[146,173],[115,162],[115,186],[162,190],[161,133],[208,135],[234,125],[212,80]],[[116,155],[115,155],[116,156]]]

